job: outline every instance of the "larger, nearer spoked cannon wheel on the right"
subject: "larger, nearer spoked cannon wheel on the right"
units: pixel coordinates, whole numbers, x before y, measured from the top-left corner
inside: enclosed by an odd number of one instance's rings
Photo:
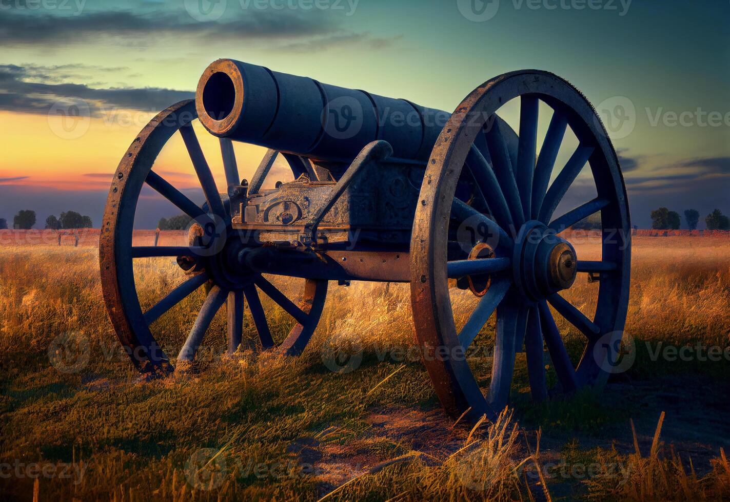
[[[515,148],[512,130],[493,117],[500,106],[518,97]],[[550,106],[553,115],[537,152],[539,101]],[[550,184],[568,126],[578,146]],[[586,162],[597,197],[553,218]],[[477,197],[460,198],[458,187],[464,179],[478,188]],[[548,394],[545,345],[562,391],[606,381],[611,361],[607,361],[609,351],[602,349],[615,347],[621,340],[626,320],[631,226],[615,151],[583,95],[543,71],[516,71],[485,82],[458,106],[442,130],[419,200],[410,253],[415,335],[447,412],[493,416],[501,411],[510,398],[515,353],[523,343],[534,399]],[[602,261],[584,261],[561,232],[597,211],[602,222]],[[459,235],[464,227],[481,227],[483,238],[465,246]],[[599,277],[593,320],[558,292],[572,286],[577,272]],[[474,279],[470,284],[479,283],[473,289],[483,296],[458,330],[448,279],[463,281],[464,277]],[[585,335],[577,367],[549,305]],[[481,375],[475,378],[464,351],[495,311],[491,382],[483,393],[477,383]]]

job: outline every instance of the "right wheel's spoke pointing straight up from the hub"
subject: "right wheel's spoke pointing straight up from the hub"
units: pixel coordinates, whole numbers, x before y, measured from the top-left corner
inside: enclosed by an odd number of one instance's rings
[[[534,95],[520,98],[520,143],[517,154],[515,176],[520,189],[522,211],[526,218],[531,215],[532,177],[535,173],[535,152],[537,150],[537,115],[539,101]]]

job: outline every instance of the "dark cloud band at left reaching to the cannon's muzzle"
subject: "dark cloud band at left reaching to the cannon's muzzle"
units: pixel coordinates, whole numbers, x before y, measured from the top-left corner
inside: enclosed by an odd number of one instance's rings
[[[34,82],[57,82],[58,68],[63,67],[0,65],[0,110],[47,114],[54,105],[76,104],[81,114],[99,116],[102,109],[158,111],[194,97],[192,91],[160,87],[96,89],[83,84]]]

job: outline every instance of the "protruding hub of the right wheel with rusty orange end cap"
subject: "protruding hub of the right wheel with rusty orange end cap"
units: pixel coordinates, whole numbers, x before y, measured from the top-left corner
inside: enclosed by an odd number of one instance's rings
[[[569,289],[577,273],[575,248],[539,221],[528,221],[515,239],[512,273],[529,302]]]

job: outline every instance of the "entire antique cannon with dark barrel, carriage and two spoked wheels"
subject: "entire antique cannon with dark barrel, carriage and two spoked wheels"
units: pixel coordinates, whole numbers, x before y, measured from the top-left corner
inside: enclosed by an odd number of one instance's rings
[[[520,105],[517,132],[496,114],[512,100]],[[545,111],[550,122],[538,149],[538,118]],[[220,138],[223,194],[193,132],[196,120]],[[153,170],[178,131],[204,203]],[[572,154],[550,183],[567,136],[575,146],[567,145]],[[269,149],[250,181],[239,177],[232,141]],[[293,181],[264,189],[279,154]],[[595,196],[554,217],[587,163]],[[194,219],[188,246],[133,246],[144,184]],[[602,261],[583,260],[561,232],[597,212]],[[150,375],[189,368],[224,303],[231,353],[242,343],[247,304],[261,347],[293,355],[315,331],[328,281],[410,283],[415,338],[440,401],[455,417],[467,410],[478,416],[507,404],[518,352],[526,353],[534,399],[548,394],[545,347],[561,391],[605,382],[613,362],[609,349],[621,340],[626,319],[630,230],[623,176],[607,133],[583,95],[553,74],[503,74],[448,114],[217,60],[204,71],[196,99],[158,114],[121,160],[99,259],[118,337],[139,371]],[[154,256],[176,258],[188,278],[158,301],[142,302],[133,263]],[[596,283],[590,286],[597,289],[588,307],[592,319],[559,294],[577,272]],[[301,297],[288,297],[264,275],[299,278]],[[201,287],[207,288],[204,302],[171,359],[157,341],[164,322],[156,321]],[[272,334],[259,291],[291,316],[288,335]],[[466,315],[465,305],[472,306]],[[577,364],[553,311],[582,334],[585,350]],[[485,338],[495,312],[486,383],[483,366],[472,365],[465,353]]]

